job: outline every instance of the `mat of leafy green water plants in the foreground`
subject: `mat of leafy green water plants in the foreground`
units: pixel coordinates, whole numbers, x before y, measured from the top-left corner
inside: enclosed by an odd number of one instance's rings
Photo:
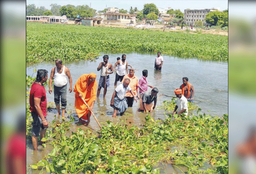
[[[227,173],[227,114],[222,118],[175,114],[165,120],[148,115],[145,120],[141,128],[121,120],[107,121],[98,132],[78,128],[70,133],[68,124],[74,121],[70,116],[55,127],[54,137],[47,129],[45,140],[53,149],[31,168],[50,173],[156,174],[162,162],[186,166],[186,173]],[[206,163],[213,168],[202,170]]]

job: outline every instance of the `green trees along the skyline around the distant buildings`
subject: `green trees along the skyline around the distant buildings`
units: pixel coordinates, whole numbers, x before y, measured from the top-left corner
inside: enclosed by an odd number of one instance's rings
[[[93,17],[96,14],[96,10],[90,8],[88,5],[58,5],[58,4],[51,4],[51,10],[46,9],[44,6],[37,7],[35,4],[26,5],[26,15],[27,16],[40,16],[40,15],[55,15],[55,16],[62,16],[66,15],[67,18],[70,20],[74,20],[75,18],[79,17]],[[105,13],[108,8],[99,11],[100,13]],[[127,10],[123,8],[119,10],[119,13],[128,13]],[[130,14],[135,14],[138,20],[142,20],[142,18],[148,18],[149,20],[157,20],[159,10],[157,9],[156,5],[151,4],[144,4],[143,10],[138,10],[137,7],[131,7],[129,10]],[[167,11],[168,14],[175,14],[174,21],[182,21],[184,13],[180,11],[180,9],[169,9]],[[214,11],[210,12],[205,15],[205,21],[210,24],[211,26],[218,25],[218,26],[228,26],[228,10],[224,10],[223,12]],[[198,26],[201,26],[202,23],[198,22]]]

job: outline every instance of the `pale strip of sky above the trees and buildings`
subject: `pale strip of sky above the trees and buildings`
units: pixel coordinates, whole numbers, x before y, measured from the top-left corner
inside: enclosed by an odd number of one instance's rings
[[[180,9],[182,13],[184,10],[189,8],[191,10],[201,10],[201,9],[210,9],[210,8],[218,8],[219,10],[228,9],[228,1],[227,0],[172,0],[172,1],[163,1],[163,0],[155,0],[155,1],[138,1],[138,0],[129,0],[129,1],[120,1],[120,0],[112,0],[112,1],[104,1],[104,0],[27,0],[26,5],[35,4],[36,7],[44,6],[48,10],[51,10],[51,4],[57,5],[67,5],[71,4],[74,6],[77,5],[88,5],[91,8],[99,11],[103,10],[107,7],[117,7],[118,9],[124,9],[129,12],[131,6],[137,7],[138,10],[142,10],[144,4],[155,4],[158,8],[168,8],[172,9]]]

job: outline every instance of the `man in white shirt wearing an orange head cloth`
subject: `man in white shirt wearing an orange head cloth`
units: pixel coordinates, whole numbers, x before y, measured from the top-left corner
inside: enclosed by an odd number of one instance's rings
[[[188,115],[188,100],[182,95],[182,90],[180,88],[177,88],[175,91],[175,95],[177,97],[176,106],[173,110],[173,114],[177,113],[179,114],[185,114]],[[177,112],[176,112],[177,110]],[[173,115],[172,114],[172,115]]]

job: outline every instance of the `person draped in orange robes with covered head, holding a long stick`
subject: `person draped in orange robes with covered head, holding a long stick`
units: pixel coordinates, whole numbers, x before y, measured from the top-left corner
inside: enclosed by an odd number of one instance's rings
[[[94,73],[84,74],[79,77],[74,86],[75,111],[81,120],[87,120],[87,123],[84,124],[86,126],[90,123],[91,111],[93,111],[96,100],[97,82],[95,79],[96,74]],[[90,109],[81,98],[85,100]]]

